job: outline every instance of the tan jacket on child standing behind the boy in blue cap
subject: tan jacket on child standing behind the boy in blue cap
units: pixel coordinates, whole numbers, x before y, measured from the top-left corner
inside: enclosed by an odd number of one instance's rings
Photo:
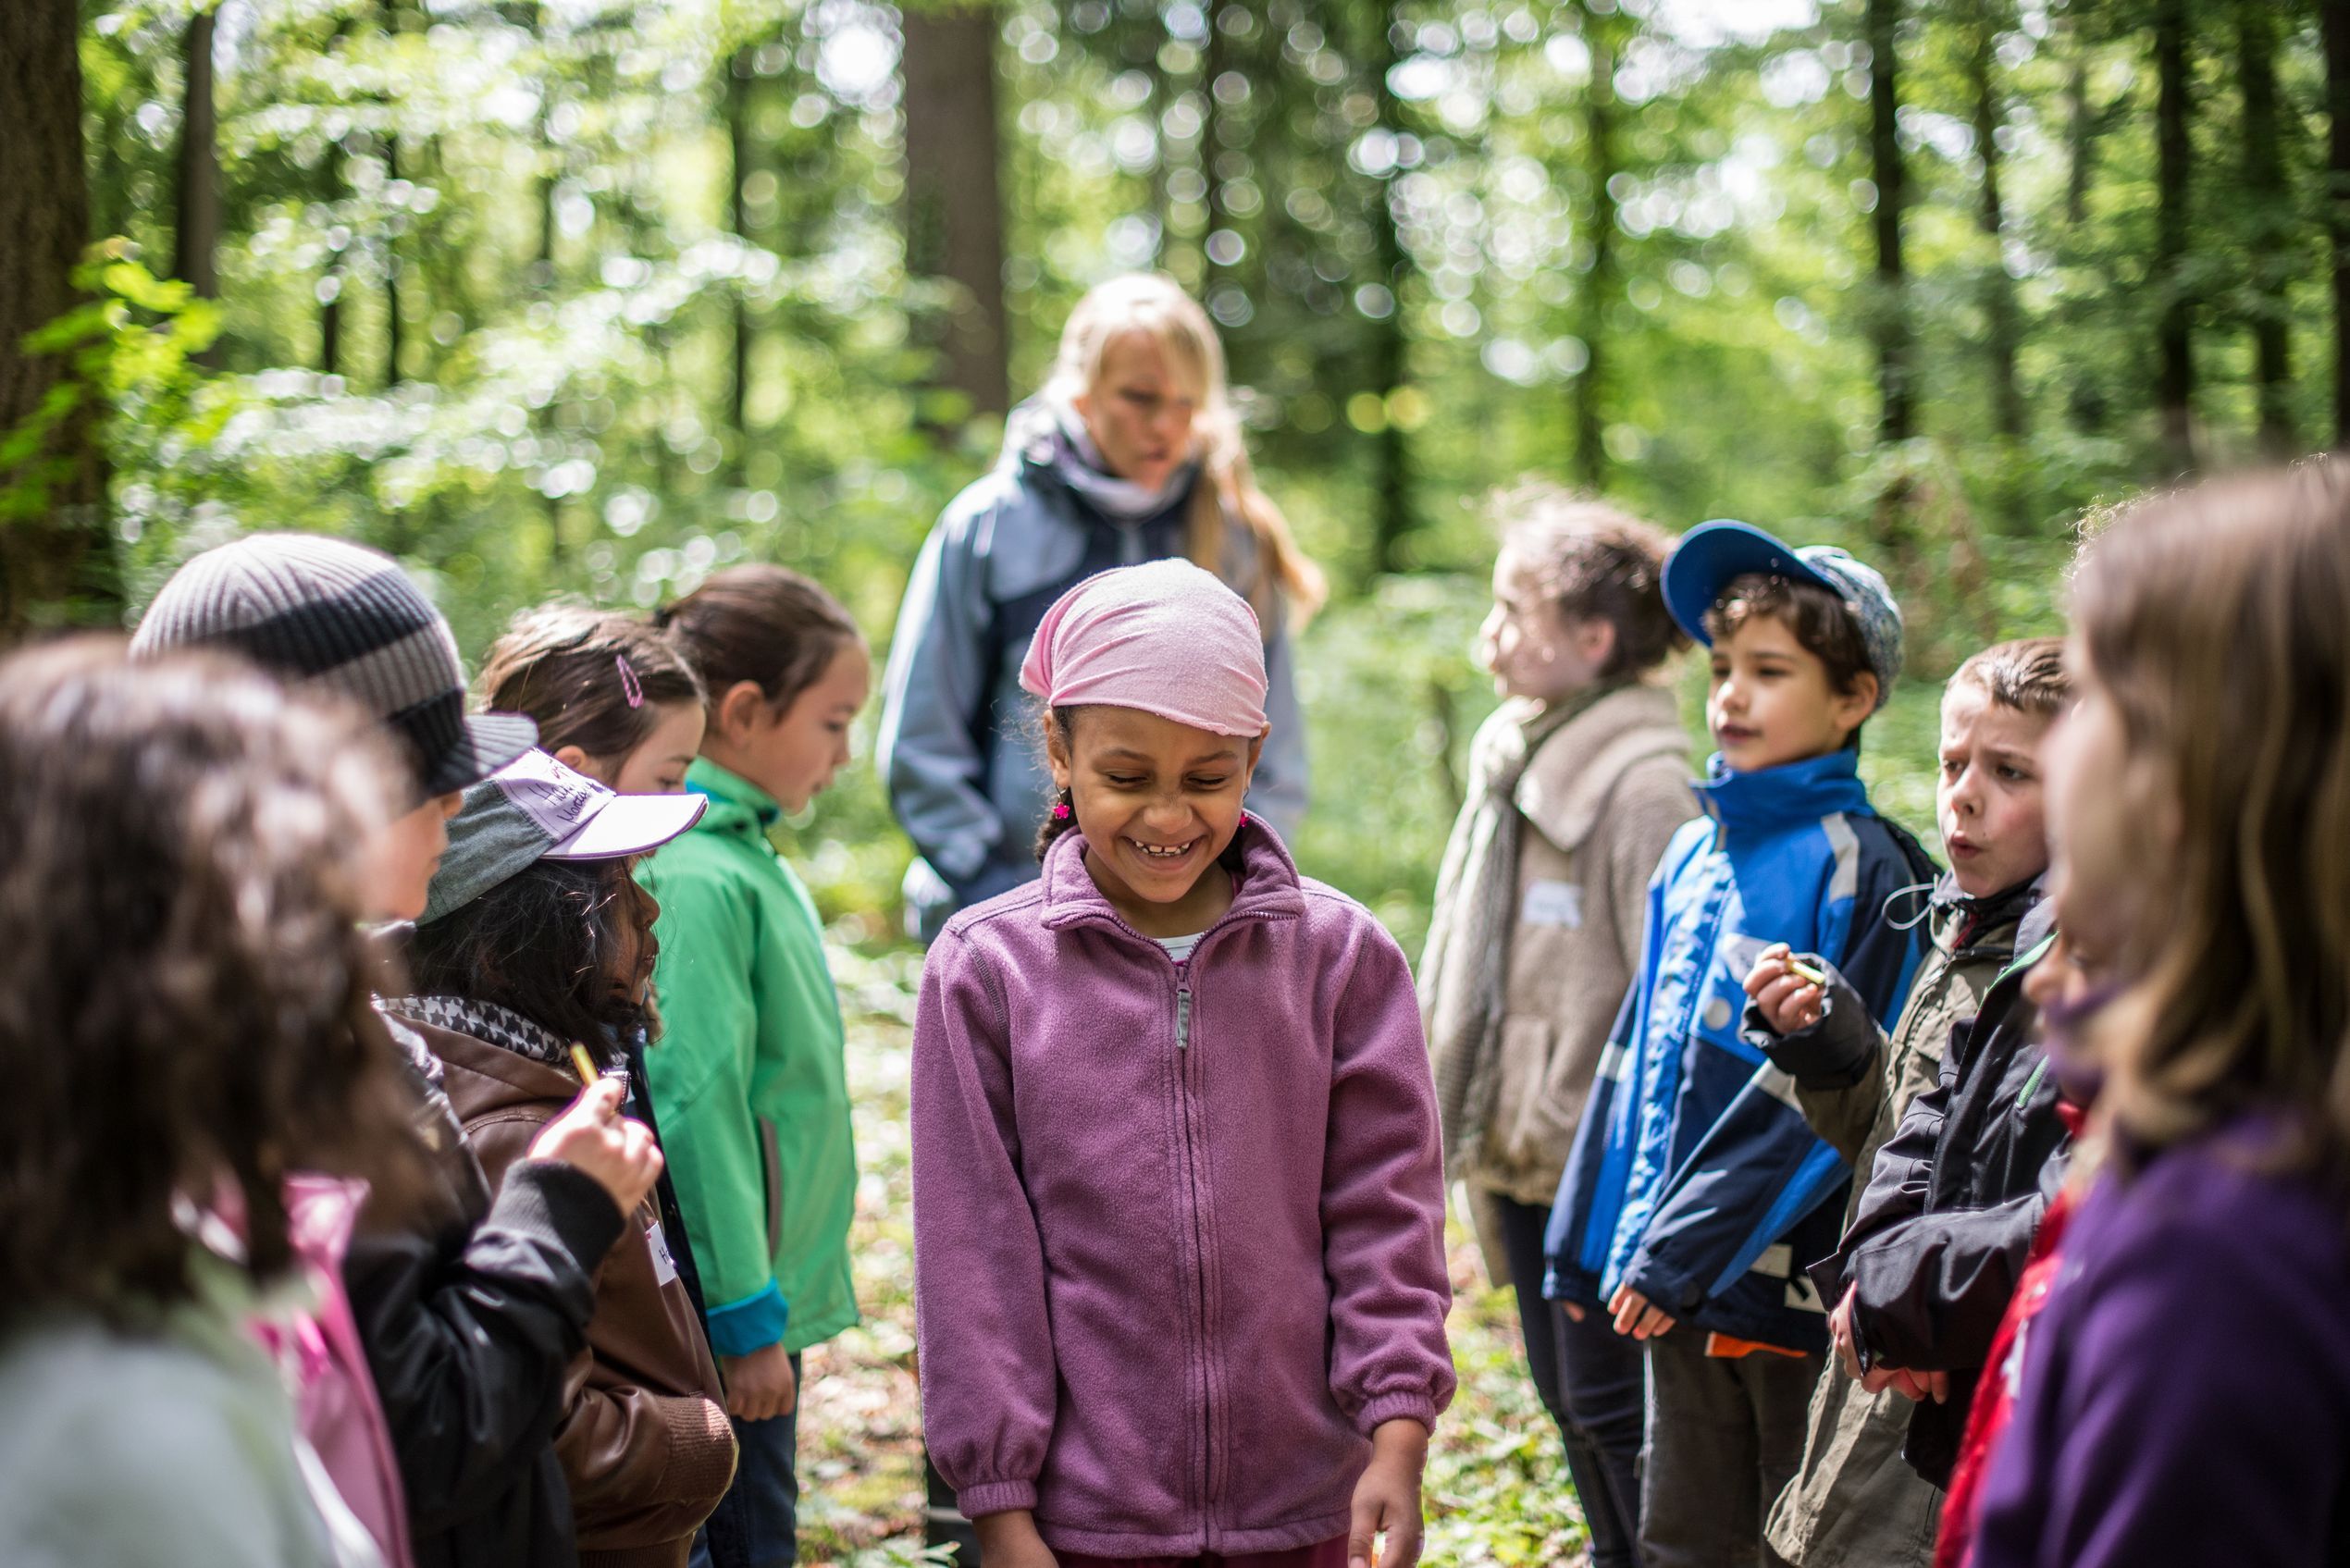
[[[1549,1206],[1640,964],[1650,872],[1697,816],[1673,693],[1626,686],[1560,724],[1525,764],[1516,804],[1499,1081],[1471,1185]]]

